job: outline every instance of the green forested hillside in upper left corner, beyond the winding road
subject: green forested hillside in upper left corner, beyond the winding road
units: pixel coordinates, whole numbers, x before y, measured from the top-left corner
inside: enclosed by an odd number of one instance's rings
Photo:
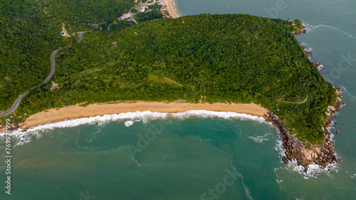
[[[48,76],[53,50],[75,41],[61,36],[63,23],[70,34],[96,28],[92,23],[106,27],[133,4],[134,0],[1,1],[0,110],[9,109],[19,95]]]

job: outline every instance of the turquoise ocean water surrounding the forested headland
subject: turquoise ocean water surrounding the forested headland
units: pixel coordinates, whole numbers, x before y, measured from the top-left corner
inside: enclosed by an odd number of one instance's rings
[[[356,199],[356,1],[176,0],[176,6],[182,15],[303,21],[309,32],[298,41],[345,92],[333,137],[342,162],[330,172],[313,166],[299,173],[281,162],[276,129],[252,120],[148,120],[129,128],[125,121],[100,122],[16,135],[11,195],[1,139],[0,199]]]

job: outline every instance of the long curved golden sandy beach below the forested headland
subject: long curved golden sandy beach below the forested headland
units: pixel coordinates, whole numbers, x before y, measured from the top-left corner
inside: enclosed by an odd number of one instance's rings
[[[196,104],[187,102],[120,102],[111,104],[92,104],[86,107],[70,105],[59,109],[51,109],[38,112],[26,119],[23,129],[35,127],[50,122],[78,119],[83,117],[95,117],[103,115],[119,114],[122,112],[151,111],[151,112],[184,112],[187,110],[211,110],[218,112],[239,112],[248,115],[263,117],[267,110],[261,105],[241,103],[214,103]]]

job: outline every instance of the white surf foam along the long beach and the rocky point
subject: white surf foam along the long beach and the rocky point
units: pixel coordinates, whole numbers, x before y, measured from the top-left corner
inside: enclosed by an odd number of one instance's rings
[[[56,122],[53,124],[46,124],[46,125],[40,125],[38,127],[31,127],[28,129],[26,132],[22,132],[23,130],[16,130],[12,132],[11,134],[16,137],[17,142],[16,145],[22,145],[27,142],[31,141],[31,136],[36,136],[37,139],[41,138],[44,132],[50,132],[51,130],[55,128],[63,128],[63,127],[76,127],[79,125],[105,125],[108,122],[113,122],[113,121],[124,121],[124,120],[135,120],[137,118],[140,118],[143,122],[147,122],[148,120],[164,120],[164,119],[187,119],[187,118],[193,118],[193,117],[199,117],[199,118],[223,118],[223,119],[238,119],[238,120],[253,120],[257,121],[260,123],[267,123],[269,125],[272,125],[271,122],[266,122],[266,120],[263,117],[256,117],[252,115],[247,115],[244,113],[237,113],[237,112],[216,112],[216,111],[209,111],[209,110],[188,110],[186,112],[177,112],[177,113],[167,113],[167,112],[150,112],[150,111],[145,111],[145,112],[125,112],[125,113],[120,113],[120,114],[114,114],[114,115],[104,115],[104,116],[96,116],[96,117],[86,117],[86,118],[80,118],[80,119],[75,119],[75,120],[66,120],[63,122]],[[275,127],[276,128],[276,127]],[[277,132],[278,129],[276,128]],[[263,142],[265,140],[268,140],[268,135],[271,135],[271,133],[267,133],[266,135],[263,136],[256,136],[256,137],[249,137],[251,140],[254,140],[255,142]],[[4,136],[4,133],[0,133],[0,136]],[[283,149],[282,145],[282,140],[281,138],[278,139],[278,144],[276,145],[276,150],[280,152],[280,156],[283,157],[285,156],[285,151]],[[133,159],[135,160],[135,159]],[[138,166],[141,164],[137,163]],[[310,164],[308,171],[304,172],[303,167],[297,166],[296,161],[289,162],[287,165],[288,168],[293,169],[295,172],[299,172],[300,174],[303,174],[305,179],[309,179],[309,177],[318,177],[322,172],[328,172],[328,169],[330,171],[335,171],[337,172],[337,164],[328,164],[325,169],[322,169],[319,165],[317,164]],[[356,174],[354,174],[355,176]],[[353,178],[353,177],[352,177]],[[251,194],[249,194],[249,189],[245,188],[246,194],[248,195],[249,198],[251,198]]]

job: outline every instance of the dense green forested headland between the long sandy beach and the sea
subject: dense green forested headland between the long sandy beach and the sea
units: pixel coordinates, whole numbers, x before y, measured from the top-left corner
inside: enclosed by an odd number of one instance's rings
[[[113,29],[85,33],[59,53],[53,80],[61,88],[33,90],[16,112],[111,100],[197,102],[203,95],[261,104],[301,141],[324,139],[335,90],[305,57],[290,22],[204,14]]]

